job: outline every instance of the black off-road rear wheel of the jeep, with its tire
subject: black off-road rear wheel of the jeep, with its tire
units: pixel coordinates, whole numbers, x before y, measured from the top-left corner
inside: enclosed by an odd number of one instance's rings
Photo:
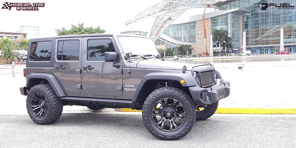
[[[28,92],[26,103],[30,118],[37,124],[54,123],[62,115],[63,102],[49,84],[32,87]]]

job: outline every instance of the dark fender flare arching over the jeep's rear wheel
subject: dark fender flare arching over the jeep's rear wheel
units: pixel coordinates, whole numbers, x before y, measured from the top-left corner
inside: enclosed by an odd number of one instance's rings
[[[28,75],[27,77],[27,84],[26,87],[28,88],[30,79],[45,79],[49,82],[49,84],[52,86],[52,88],[54,89],[54,92],[57,94],[57,96],[66,96],[62,86],[59,84],[59,82],[57,81],[57,78],[50,73],[32,73],[30,75]]]

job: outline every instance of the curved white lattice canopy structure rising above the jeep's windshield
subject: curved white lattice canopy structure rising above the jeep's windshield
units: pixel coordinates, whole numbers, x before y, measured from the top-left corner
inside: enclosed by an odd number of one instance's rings
[[[148,33],[148,36],[156,41],[165,28],[187,9],[205,8],[205,4],[214,4],[218,1],[223,0],[163,0],[128,20],[126,26],[156,17],[151,31]],[[172,17],[173,20],[169,20],[163,25],[163,22],[169,17]],[[163,27],[161,28],[162,25]]]

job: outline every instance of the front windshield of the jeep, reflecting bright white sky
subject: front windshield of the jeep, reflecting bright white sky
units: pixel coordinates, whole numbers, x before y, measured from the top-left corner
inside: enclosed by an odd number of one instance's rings
[[[131,53],[132,55],[141,56],[159,56],[155,44],[150,38],[142,38],[135,36],[118,36],[118,41],[124,54]]]

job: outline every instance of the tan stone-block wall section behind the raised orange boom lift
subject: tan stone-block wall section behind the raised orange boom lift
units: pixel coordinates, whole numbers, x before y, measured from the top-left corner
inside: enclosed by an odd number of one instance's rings
[[[207,49],[210,51],[210,35],[212,33],[212,19],[207,18],[205,19],[205,27],[206,27],[206,34],[207,34]],[[196,43],[192,43],[192,54],[194,53],[202,53],[206,51],[205,49],[205,36],[203,30],[203,21],[198,20],[195,24],[195,33],[196,33]]]

